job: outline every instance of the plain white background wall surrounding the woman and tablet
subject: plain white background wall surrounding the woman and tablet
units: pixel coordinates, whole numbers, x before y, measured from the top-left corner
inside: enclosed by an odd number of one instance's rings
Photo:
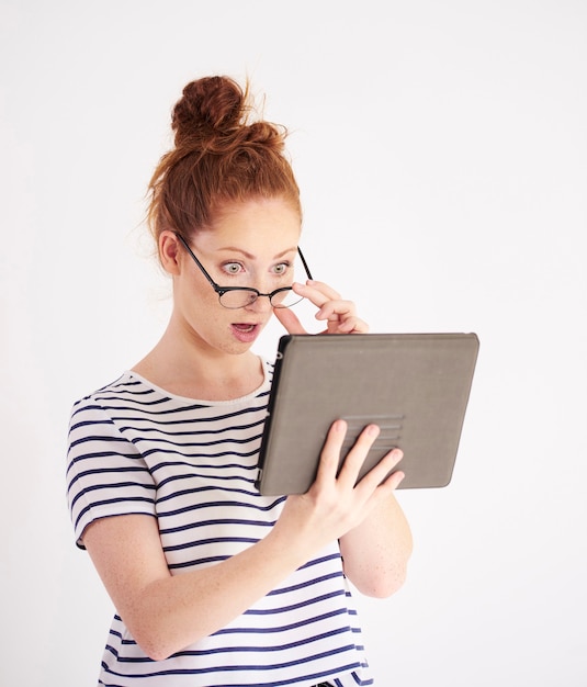
[[[69,409],[166,325],[144,194],[208,74],[292,131],[316,277],[481,339],[452,483],[399,495],[409,578],[360,600],[377,684],[587,685],[584,0],[0,0],[0,684],[95,684]]]

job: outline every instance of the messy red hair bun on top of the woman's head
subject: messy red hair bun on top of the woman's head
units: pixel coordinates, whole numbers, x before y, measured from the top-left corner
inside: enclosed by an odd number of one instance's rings
[[[234,131],[245,114],[245,101],[240,86],[228,77],[191,81],[173,108],[176,145]]]

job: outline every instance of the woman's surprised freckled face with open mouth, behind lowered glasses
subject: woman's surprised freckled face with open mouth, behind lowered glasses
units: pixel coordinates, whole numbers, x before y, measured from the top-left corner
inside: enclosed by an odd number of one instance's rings
[[[219,286],[246,286],[271,293],[294,281],[301,221],[282,199],[228,205],[210,230],[193,234],[190,247]],[[174,311],[184,334],[199,346],[242,353],[272,315],[268,297],[238,309],[221,305],[218,294],[181,244],[174,279]]]

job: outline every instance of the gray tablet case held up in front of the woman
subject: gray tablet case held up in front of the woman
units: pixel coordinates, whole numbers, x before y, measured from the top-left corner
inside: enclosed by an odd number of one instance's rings
[[[338,418],[349,427],[341,460],[368,424],[381,427],[360,476],[399,447],[400,488],[447,486],[478,346],[475,334],[283,336],[257,488],[264,495],[306,492]]]

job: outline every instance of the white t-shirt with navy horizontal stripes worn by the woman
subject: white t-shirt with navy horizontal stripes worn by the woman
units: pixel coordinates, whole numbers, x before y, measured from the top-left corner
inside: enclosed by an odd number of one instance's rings
[[[75,404],[68,500],[78,545],[98,518],[155,516],[173,575],[214,565],[262,539],[283,497],[255,487],[273,368],[226,402],[174,396],[133,372]],[[125,687],[372,685],[332,542],[214,634],[149,658],[114,615],[100,685]]]

